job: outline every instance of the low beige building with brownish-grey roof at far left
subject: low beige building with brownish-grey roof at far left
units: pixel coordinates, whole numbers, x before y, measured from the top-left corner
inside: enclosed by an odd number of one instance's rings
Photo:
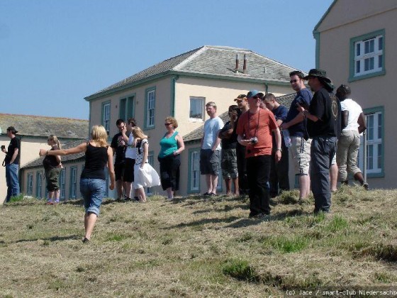
[[[21,193],[33,197],[45,197],[43,160],[38,159],[38,152],[40,148],[49,148],[47,145],[48,136],[54,134],[60,139],[62,144],[76,140],[82,142],[89,136],[88,124],[89,121],[71,118],[0,114],[0,145],[5,145],[6,148],[9,146],[10,138],[6,136],[6,129],[9,126],[16,128],[18,131],[16,138],[21,140],[21,158],[19,164],[19,186]],[[2,157],[4,159],[5,154],[0,154],[4,155]],[[37,166],[28,167],[28,165],[35,161],[38,161]],[[81,169],[83,164],[84,160],[76,160],[75,166]],[[70,171],[69,167],[65,166],[65,171],[68,173]],[[2,204],[7,194],[5,167],[0,167],[0,177],[0,204]],[[67,180],[66,182],[68,183]],[[77,192],[77,194],[79,193]]]

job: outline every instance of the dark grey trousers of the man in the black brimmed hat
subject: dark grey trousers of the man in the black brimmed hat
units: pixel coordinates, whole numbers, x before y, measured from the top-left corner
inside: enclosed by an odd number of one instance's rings
[[[311,191],[314,211],[331,208],[330,167],[336,152],[336,137],[317,136],[311,141]]]

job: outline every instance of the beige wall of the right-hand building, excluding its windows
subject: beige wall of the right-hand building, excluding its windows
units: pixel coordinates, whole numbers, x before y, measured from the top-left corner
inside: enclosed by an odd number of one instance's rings
[[[396,138],[394,138],[393,111],[397,102],[393,99],[393,80],[397,75],[397,57],[393,54],[397,45],[397,2],[338,0],[318,27],[320,37],[319,67],[326,70],[335,86],[349,84],[352,98],[363,109],[380,106],[384,109],[384,175],[369,179],[371,187],[397,187],[394,165],[397,164]],[[351,39],[367,33],[384,30],[385,74],[365,79],[350,79]],[[350,81],[350,82],[349,82]]]

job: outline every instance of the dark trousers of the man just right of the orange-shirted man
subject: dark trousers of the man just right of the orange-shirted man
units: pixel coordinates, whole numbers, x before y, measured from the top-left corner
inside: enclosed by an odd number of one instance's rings
[[[284,147],[281,153],[281,160],[276,162],[276,155],[272,153],[272,164],[270,165],[270,197],[279,195],[279,189],[289,190],[289,152]]]

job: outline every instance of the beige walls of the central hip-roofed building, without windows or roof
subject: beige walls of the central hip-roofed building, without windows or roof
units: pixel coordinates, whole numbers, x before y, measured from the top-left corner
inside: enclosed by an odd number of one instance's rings
[[[203,121],[208,118],[208,115],[203,111],[204,118],[202,120],[189,119],[190,109],[190,96],[199,96],[205,98],[205,103],[208,101],[215,101],[218,106],[218,114],[228,110],[228,106],[235,104],[235,97],[239,94],[247,94],[250,89],[258,89],[265,92],[264,84],[255,84],[247,82],[232,82],[225,80],[216,79],[202,79],[197,77],[183,77],[179,76],[175,80],[175,87],[173,86],[173,77],[166,77],[157,79],[148,84],[143,84],[138,87],[133,87],[111,96],[103,96],[99,99],[91,101],[90,110],[90,126],[102,123],[102,106],[104,103],[111,103],[111,119],[110,119],[110,133],[109,137],[113,137],[114,134],[118,133],[116,128],[116,120],[120,118],[120,99],[128,96],[135,96],[135,109],[133,116],[138,122],[138,126],[144,128],[145,133],[149,136],[149,151],[152,155],[153,166],[160,171],[160,164],[157,161],[157,155],[160,151],[160,139],[166,132],[164,128],[164,118],[169,116],[172,112],[172,105],[174,104],[174,116],[177,118],[179,127],[177,131],[181,136],[186,135],[203,125]],[[155,88],[156,90],[156,101],[155,101],[155,126],[154,128],[145,128],[145,99],[146,92],[149,89]],[[174,88],[174,89],[173,89]],[[289,86],[281,85],[269,85],[268,92],[274,93],[276,96],[284,95],[293,92]],[[174,99],[175,96],[175,99]],[[172,102],[175,100],[174,103]],[[204,103],[204,104],[205,104]],[[180,191],[179,194],[187,193],[187,175],[188,175],[188,163],[189,160],[188,152],[185,150],[181,154],[181,180],[180,180]],[[204,182],[201,182],[201,185]],[[224,185],[223,185],[223,188]],[[153,194],[163,193],[161,187],[152,187]],[[114,192],[113,192],[114,194]]]

